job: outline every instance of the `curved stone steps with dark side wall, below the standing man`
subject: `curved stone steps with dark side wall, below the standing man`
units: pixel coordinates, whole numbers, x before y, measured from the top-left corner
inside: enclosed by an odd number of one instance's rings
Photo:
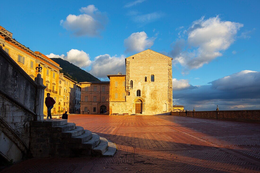
[[[110,157],[116,145],[66,119],[31,122],[31,157]]]

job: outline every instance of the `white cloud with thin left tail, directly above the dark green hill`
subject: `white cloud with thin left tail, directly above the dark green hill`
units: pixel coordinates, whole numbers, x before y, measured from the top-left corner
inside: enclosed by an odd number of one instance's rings
[[[49,55],[46,56],[49,58],[65,59],[80,68],[86,68],[91,64],[89,54],[87,54],[83,50],[71,49],[70,51],[67,52],[67,56],[64,56],[64,54],[55,55],[53,53],[50,53]]]

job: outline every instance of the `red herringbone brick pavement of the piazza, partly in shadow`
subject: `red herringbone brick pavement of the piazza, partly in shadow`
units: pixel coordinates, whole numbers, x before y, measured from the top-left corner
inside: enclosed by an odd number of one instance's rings
[[[108,115],[68,121],[116,143],[115,156],[33,158],[2,172],[260,172],[260,123]]]

